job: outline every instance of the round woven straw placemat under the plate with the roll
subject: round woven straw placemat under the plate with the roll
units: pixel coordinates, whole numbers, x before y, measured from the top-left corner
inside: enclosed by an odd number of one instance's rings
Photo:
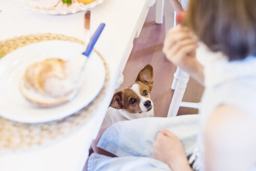
[[[0,54],[4,57],[6,54],[19,47],[49,40],[63,40],[83,44],[83,41],[79,39],[61,34],[31,34],[1,41]],[[100,106],[109,81],[109,70],[107,64],[104,58],[97,51],[95,52],[103,60],[106,70],[104,86],[95,99],[79,112],[63,119],[47,123],[25,124],[0,117],[0,150],[26,149],[46,142],[51,142],[61,136],[68,135],[72,130],[75,130],[78,126],[82,126],[86,123],[87,118],[97,107]]]

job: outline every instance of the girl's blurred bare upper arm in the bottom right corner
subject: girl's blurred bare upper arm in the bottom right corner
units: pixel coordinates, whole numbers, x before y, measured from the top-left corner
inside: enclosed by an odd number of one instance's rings
[[[255,116],[240,108],[217,107],[205,128],[205,169],[249,170],[256,163],[255,123]]]

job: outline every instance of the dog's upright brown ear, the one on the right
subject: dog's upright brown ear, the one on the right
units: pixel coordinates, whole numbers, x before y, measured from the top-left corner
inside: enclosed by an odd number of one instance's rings
[[[151,65],[146,65],[137,76],[135,82],[140,81],[149,87],[149,90],[152,90],[154,79],[153,79],[153,67]]]

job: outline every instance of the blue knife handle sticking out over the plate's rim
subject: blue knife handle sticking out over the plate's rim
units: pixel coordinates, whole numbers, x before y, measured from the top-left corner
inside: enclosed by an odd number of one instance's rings
[[[99,36],[101,35],[101,32],[104,29],[104,27],[105,27],[105,23],[101,23],[100,26],[97,28],[97,30],[92,35],[92,38],[90,39],[90,42],[86,48],[86,51],[82,53],[83,55],[86,55],[87,57],[89,57],[95,43],[97,42],[97,40],[99,39]]]

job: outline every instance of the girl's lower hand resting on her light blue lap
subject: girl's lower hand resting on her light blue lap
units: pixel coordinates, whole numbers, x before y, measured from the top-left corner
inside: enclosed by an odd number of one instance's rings
[[[171,169],[191,170],[179,139],[168,130],[160,130],[153,144],[153,158],[169,165]]]

